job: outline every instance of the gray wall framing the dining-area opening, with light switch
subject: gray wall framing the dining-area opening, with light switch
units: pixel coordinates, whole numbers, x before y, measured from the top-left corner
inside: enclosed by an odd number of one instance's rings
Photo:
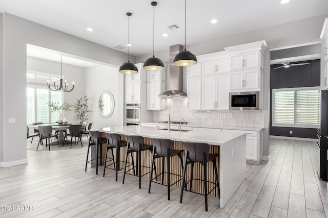
[[[119,66],[128,55],[108,47],[3,14],[3,130],[5,166],[27,162],[26,152],[26,50],[32,44],[73,56]],[[132,57],[132,60],[134,58]],[[13,98],[15,101],[13,101]],[[9,117],[16,123],[9,124]],[[21,133],[17,135],[17,133]],[[12,139],[15,138],[13,141]]]

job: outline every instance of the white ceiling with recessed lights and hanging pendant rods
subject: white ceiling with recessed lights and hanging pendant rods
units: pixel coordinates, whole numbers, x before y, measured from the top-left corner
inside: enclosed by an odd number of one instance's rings
[[[184,45],[183,0],[159,0],[155,6],[155,55],[170,45]],[[152,53],[153,6],[145,0],[0,0],[0,12],[7,12],[108,47],[122,45],[130,54]],[[327,0],[188,0],[187,46],[222,36],[279,25],[293,20],[328,13]],[[216,24],[210,21],[215,18]],[[176,24],[178,30],[167,27]],[[93,28],[88,32],[87,28]],[[305,28],[305,27],[304,27]],[[168,37],[162,34],[167,33]]]

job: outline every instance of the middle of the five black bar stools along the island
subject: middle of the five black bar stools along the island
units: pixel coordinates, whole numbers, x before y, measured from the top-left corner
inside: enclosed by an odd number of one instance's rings
[[[127,139],[128,139],[128,148],[127,148],[127,154],[125,157],[125,165],[124,165],[122,184],[124,184],[125,174],[133,169],[133,175],[139,176],[139,188],[141,188],[141,177],[150,173],[150,172],[148,172],[148,173],[141,175],[141,152],[146,151],[146,150],[152,152],[153,146],[144,144],[144,137],[139,136],[139,135],[133,135],[133,136],[127,135]],[[133,152],[137,153],[137,165],[136,165],[136,167],[134,167],[133,159],[132,159],[133,166],[131,169],[129,169],[129,171],[127,171],[128,155],[131,154],[131,157],[132,157]],[[147,167],[147,166],[142,166],[142,167]],[[135,168],[137,169],[136,171],[135,171]]]

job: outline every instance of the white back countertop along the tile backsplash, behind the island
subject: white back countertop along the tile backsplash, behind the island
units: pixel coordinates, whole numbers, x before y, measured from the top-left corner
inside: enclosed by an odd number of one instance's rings
[[[141,125],[142,124],[160,125],[160,126],[165,125],[165,124],[160,124],[158,122],[142,122]],[[171,126],[180,126],[180,124],[171,124]],[[199,125],[199,124],[187,124],[187,125],[181,125],[181,127],[195,127],[195,128],[206,128],[206,129],[227,129],[227,130],[245,130],[245,131],[261,131],[261,130],[264,129],[264,127],[213,126],[213,125]]]

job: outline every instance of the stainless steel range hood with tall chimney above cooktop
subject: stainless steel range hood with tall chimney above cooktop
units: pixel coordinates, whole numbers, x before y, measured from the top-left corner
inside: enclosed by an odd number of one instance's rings
[[[182,91],[183,67],[173,64],[174,57],[181,51],[182,45],[176,44],[170,46],[170,90],[159,94],[158,96],[160,98],[187,97],[187,93]]]

